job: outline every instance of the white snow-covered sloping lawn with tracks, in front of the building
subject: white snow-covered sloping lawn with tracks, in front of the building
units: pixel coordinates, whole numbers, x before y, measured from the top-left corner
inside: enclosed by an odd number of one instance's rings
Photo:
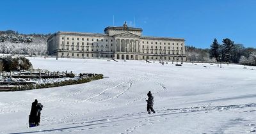
[[[73,86],[0,92],[0,133],[256,131],[256,68],[252,66],[163,66],[145,61],[54,58],[30,61],[34,68],[102,73],[105,78]],[[147,114],[148,91],[154,96],[156,114]],[[44,105],[41,122],[28,128],[35,98]]]

